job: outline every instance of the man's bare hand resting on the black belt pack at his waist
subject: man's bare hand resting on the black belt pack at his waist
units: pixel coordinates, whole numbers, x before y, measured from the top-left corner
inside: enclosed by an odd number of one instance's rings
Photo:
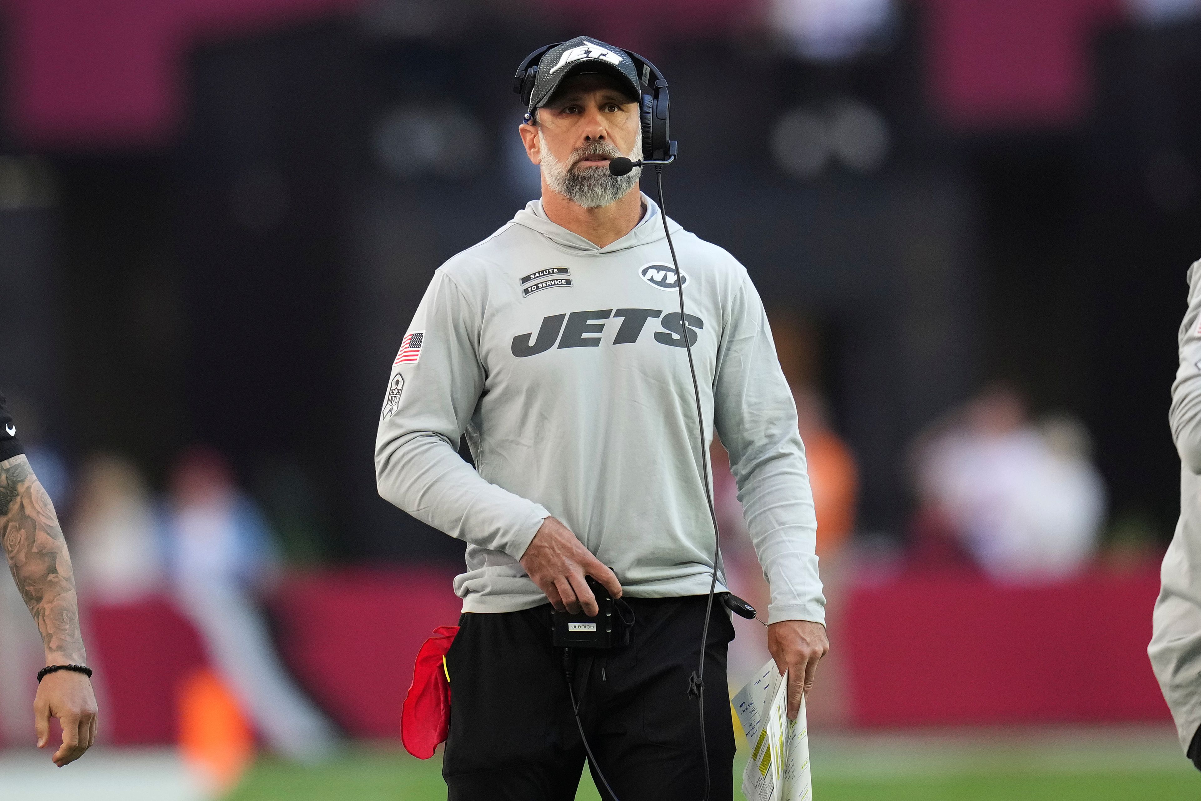
[[[558,611],[576,615],[582,608],[588,617],[599,614],[596,596],[584,580],[586,575],[604,585],[614,598],[621,598],[621,584],[614,572],[584,548],[570,528],[554,518],[542,521],[538,533],[521,555],[521,567]]]

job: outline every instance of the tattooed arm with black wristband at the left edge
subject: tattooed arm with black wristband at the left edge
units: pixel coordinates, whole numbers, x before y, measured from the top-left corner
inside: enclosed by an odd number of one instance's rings
[[[62,724],[59,767],[73,763],[96,739],[96,695],[79,635],[71,557],[54,504],[25,459],[17,425],[0,393],[0,544],[46,647],[44,677],[34,699],[37,747],[50,740],[50,718]],[[2,658],[2,654],[0,654]]]

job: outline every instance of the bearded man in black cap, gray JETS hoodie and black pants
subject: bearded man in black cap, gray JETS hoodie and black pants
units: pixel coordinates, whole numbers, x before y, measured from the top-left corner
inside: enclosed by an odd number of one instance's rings
[[[610,159],[641,157],[641,91],[629,55],[592,37],[542,56],[520,126],[542,199],[435,273],[393,365],[380,494],[467,542],[447,654],[452,800],[575,796],[585,752],[550,609],[596,615],[585,576],[635,618],[628,646],[574,671],[599,769],[622,801],[703,796],[687,691],[713,533],[686,342],[705,438],[716,426],[730,453],[771,585],[769,647],[790,671],[790,715],[829,647],[803,448],[759,295],[729,253],[668,221],[677,276],[638,171],[609,173]],[[476,470],[456,454],[464,432]],[[719,604],[709,632],[704,747],[717,801],[731,797],[734,758],[733,627]]]

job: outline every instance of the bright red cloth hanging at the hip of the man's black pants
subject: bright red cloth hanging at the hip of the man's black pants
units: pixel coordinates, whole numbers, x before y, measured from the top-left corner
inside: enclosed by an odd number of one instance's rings
[[[450,677],[443,658],[458,633],[458,626],[438,626],[417,652],[413,683],[400,719],[400,740],[405,751],[418,759],[432,757],[450,731]]]

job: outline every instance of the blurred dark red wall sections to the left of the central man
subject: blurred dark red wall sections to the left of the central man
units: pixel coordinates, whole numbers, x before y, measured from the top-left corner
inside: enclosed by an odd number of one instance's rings
[[[351,736],[396,737],[418,648],[436,626],[459,620],[462,602],[450,588],[455,572],[406,567],[298,574],[273,598],[285,664]],[[179,682],[209,664],[191,623],[169,596],[161,596],[92,605],[85,627],[101,695],[102,742],[173,742]]]

